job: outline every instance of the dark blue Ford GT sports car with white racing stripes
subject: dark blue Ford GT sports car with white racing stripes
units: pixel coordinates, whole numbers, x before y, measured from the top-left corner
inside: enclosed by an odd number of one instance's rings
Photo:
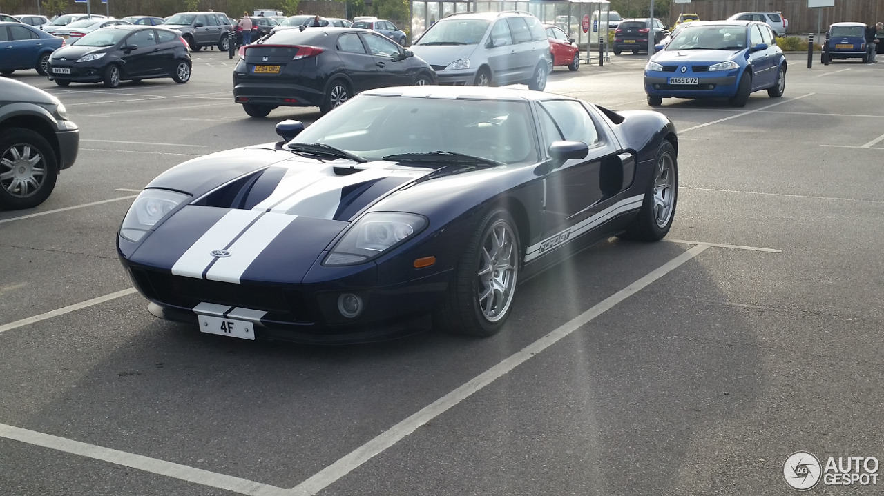
[[[678,140],[650,110],[408,86],[277,132],[134,200],[118,253],[150,312],[245,339],[371,341],[430,318],[491,335],[522,278],[674,219]]]

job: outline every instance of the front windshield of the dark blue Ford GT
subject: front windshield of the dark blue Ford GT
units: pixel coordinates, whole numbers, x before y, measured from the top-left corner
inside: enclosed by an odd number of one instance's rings
[[[537,162],[531,122],[526,101],[360,95],[292,143],[323,143],[370,161],[442,151],[503,163]],[[453,160],[440,157],[439,162]]]

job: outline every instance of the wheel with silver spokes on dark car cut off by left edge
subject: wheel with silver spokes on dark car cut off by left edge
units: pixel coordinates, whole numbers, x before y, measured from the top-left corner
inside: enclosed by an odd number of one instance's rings
[[[37,132],[17,127],[4,130],[0,138],[0,208],[40,205],[55,188],[57,164],[49,141]]]

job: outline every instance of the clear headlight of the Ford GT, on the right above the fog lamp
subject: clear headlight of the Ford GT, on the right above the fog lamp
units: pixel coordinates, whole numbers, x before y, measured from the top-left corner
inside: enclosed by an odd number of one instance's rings
[[[365,214],[331,249],[325,265],[361,264],[415,236],[427,227],[426,217],[399,212]]]

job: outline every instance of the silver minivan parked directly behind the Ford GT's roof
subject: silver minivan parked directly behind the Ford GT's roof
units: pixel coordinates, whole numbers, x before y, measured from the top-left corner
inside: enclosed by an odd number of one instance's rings
[[[522,83],[543,91],[552,67],[544,26],[521,11],[453,14],[430,26],[411,50],[444,85]]]

